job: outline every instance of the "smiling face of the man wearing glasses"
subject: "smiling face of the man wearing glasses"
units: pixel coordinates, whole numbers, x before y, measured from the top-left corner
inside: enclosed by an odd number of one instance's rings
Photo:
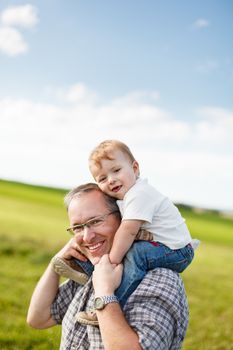
[[[70,226],[83,224],[110,212],[101,192],[82,193],[80,196],[73,198],[69,205]],[[105,220],[97,227],[85,226],[82,232],[75,235],[79,250],[91,262],[95,262],[95,258],[108,254],[119,225],[120,219],[111,214],[106,216]]]

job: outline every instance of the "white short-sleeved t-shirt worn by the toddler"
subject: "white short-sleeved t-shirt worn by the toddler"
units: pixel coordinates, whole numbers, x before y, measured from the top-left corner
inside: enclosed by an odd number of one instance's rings
[[[149,185],[146,179],[138,179],[117,204],[122,220],[145,221],[141,228],[153,233],[154,241],[171,249],[179,249],[191,243],[185,219],[177,207]]]

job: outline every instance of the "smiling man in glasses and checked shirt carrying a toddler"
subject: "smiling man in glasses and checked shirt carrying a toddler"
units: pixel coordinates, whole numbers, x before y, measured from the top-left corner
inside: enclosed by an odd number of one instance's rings
[[[80,258],[81,252],[95,270],[84,286],[69,280],[59,287],[59,275],[50,263],[33,293],[29,325],[42,329],[62,323],[64,350],[180,349],[188,307],[178,274],[162,268],[148,272],[121,310],[114,292],[120,285],[122,265],[111,264],[108,258],[120,225],[115,200],[97,185],[86,184],[71,191],[66,204],[70,226],[82,230],[57,257]],[[99,327],[77,322],[77,313],[93,306]]]

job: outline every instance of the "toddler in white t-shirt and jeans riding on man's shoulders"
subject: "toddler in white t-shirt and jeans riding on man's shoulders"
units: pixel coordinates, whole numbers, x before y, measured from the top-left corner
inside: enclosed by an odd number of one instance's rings
[[[99,188],[117,199],[121,212],[109,257],[115,264],[124,258],[124,274],[116,291],[124,306],[148,270],[166,267],[182,272],[194,256],[192,238],[174,204],[139,178],[139,164],[124,143],[100,143],[89,157],[89,168]],[[141,229],[149,231],[152,240],[133,244]],[[82,266],[85,270],[85,263]],[[77,319],[97,324],[95,313],[81,312]]]

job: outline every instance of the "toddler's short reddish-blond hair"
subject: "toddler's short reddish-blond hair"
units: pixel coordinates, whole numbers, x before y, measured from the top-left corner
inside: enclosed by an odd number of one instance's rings
[[[133,163],[135,161],[132,152],[126,144],[118,140],[106,140],[101,142],[91,152],[89,156],[89,164],[91,162],[94,162],[96,166],[100,167],[102,159],[113,159],[112,152],[115,150],[119,150],[122,153],[124,153],[128,157],[130,162]]]

